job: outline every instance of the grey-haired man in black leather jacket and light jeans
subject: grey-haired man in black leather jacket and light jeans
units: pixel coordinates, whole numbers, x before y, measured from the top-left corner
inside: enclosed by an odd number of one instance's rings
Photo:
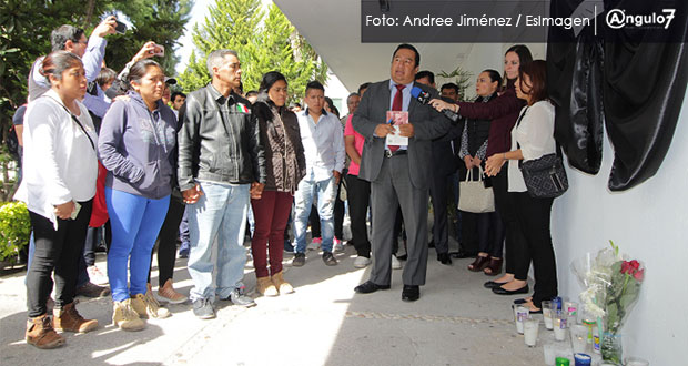
[[[189,274],[193,313],[213,318],[215,294],[234,305],[253,306],[243,294],[243,247],[251,197],[265,184],[265,159],[251,103],[233,92],[241,83],[236,52],[208,57],[210,84],[189,94],[180,110],[179,186],[189,204]],[[211,253],[217,240],[217,278],[213,287]]]

